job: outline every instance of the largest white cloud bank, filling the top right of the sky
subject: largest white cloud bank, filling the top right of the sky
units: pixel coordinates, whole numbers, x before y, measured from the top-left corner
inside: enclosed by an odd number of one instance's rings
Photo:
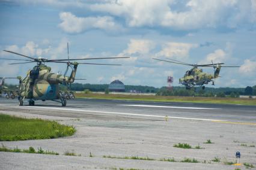
[[[162,26],[174,29],[236,28],[256,22],[255,0],[190,0],[175,7],[174,0],[117,0],[91,4],[92,11],[124,17],[130,27]]]

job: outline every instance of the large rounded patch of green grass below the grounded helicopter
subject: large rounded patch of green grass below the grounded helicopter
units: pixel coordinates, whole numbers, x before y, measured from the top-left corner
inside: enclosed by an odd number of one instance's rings
[[[41,119],[0,114],[0,141],[23,141],[31,139],[52,139],[71,136],[76,132],[73,126]]]

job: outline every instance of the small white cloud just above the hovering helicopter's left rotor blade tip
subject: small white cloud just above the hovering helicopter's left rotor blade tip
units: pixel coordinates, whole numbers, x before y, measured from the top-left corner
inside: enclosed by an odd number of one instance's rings
[[[167,42],[163,45],[162,50],[156,56],[164,56],[175,59],[186,59],[189,57],[191,48],[198,47],[198,44],[187,44],[180,42]]]

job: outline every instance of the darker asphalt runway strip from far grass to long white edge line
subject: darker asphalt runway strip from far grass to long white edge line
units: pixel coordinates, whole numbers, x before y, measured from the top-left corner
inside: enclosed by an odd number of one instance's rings
[[[0,98],[0,110],[2,107],[22,110],[47,109],[76,114],[116,114],[116,116],[145,117],[145,119],[168,116],[170,119],[256,123],[256,106],[247,105],[76,99],[67,101],[67,107],[61,107],[60,104],[52,101],[35,101],[35,107],[29,107],[26,103],[23,107],[19,107],[15,99]]]

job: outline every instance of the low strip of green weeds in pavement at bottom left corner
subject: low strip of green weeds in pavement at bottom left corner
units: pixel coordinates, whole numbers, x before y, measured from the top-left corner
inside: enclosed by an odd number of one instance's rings
[[[5,152],[15,152],[15,153],[37,153],[37,154],[55,154],[58,155],[58,153],[54,152],[54,151],[49,151],[46,150],[44,151],[41,147],[38,148],[37,151],[35,151],[35,149],[33,147],[29,147],[28,149],[19,149],[17,147],[14,147],[13,149],[11,148],[7,148],[2,144],[2,147],[0,147],[0,151],[5,151]]]

